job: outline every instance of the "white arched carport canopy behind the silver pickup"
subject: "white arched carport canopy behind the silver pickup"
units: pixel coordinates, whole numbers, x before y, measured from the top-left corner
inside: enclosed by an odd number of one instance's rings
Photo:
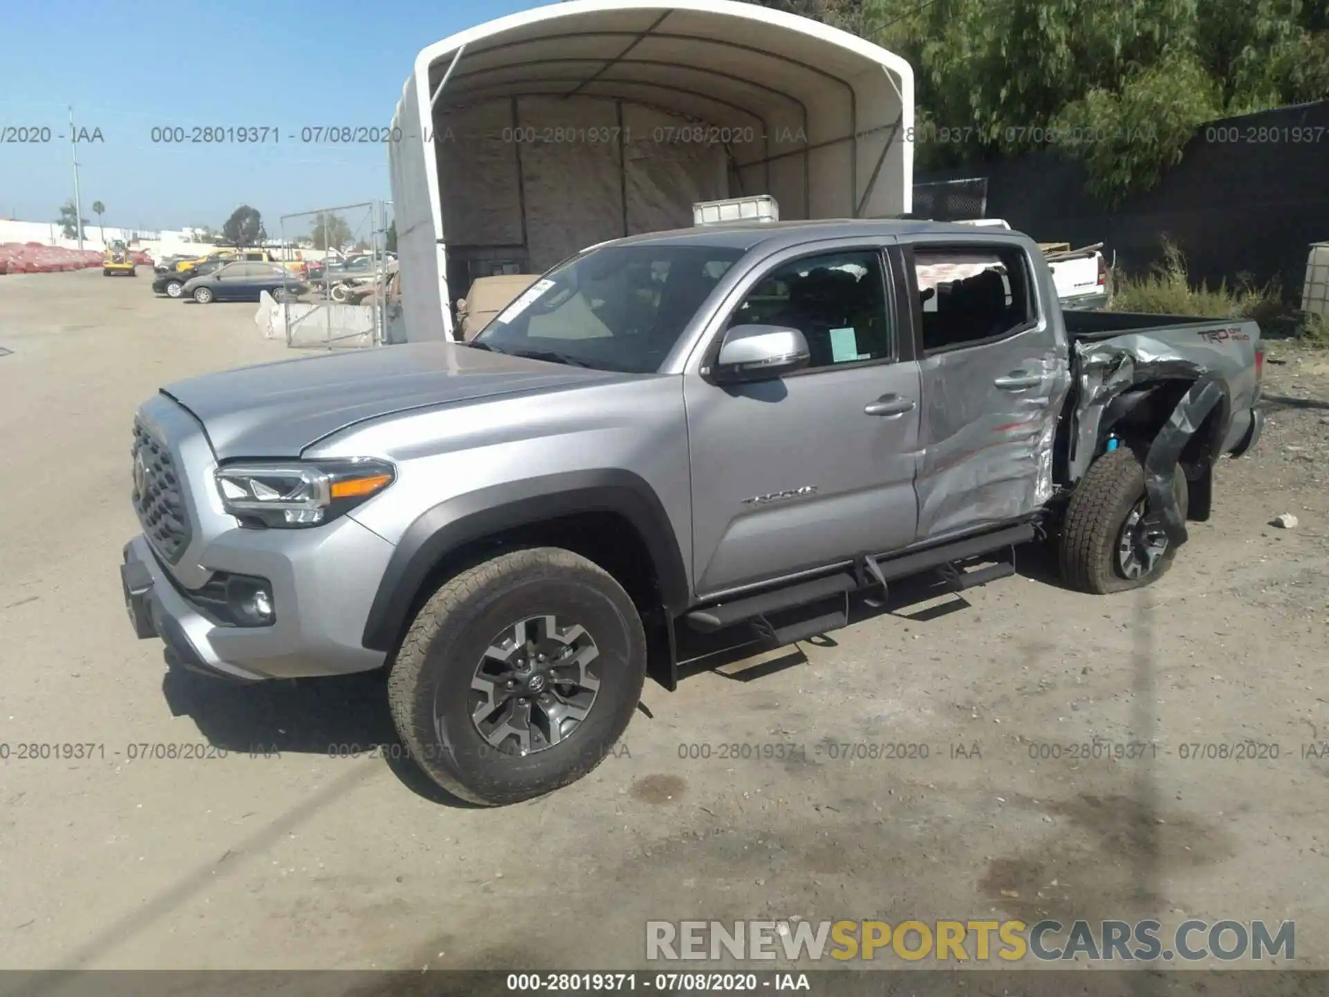
[[[397,218],[427,227],[403,201],[428,190],[445,279],[686,227],[696,201],[771,194],[785,219],[910,210],[908,62],[731,0],[571,0],[460,32],[420,53],[396,122],[427,138],[421,164],[393,162]]]

